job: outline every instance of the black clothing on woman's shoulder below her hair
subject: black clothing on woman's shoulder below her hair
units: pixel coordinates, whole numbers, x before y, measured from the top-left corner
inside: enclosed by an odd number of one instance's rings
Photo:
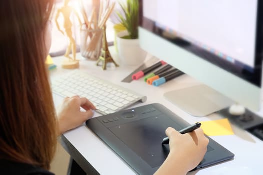
[[[0,174],[54,175],[45,169],[31,164],[17,163],[8,160],[0,160]]]

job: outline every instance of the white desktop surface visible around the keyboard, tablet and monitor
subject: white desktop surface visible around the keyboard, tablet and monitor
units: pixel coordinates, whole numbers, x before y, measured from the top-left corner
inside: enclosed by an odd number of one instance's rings
[[[116,57],[116,54],[112,54],[112,56]],[[107,70],[103,71],[100,66],[95,65],[96,62],[84,60],[80,54],[77,54],[77,57],[80,59],[81,70],[131,90],[140,89],[139,93],[146,95],[147,101],[144,103],[136,103],[133,107],[156,102],[161,103],[189,123],[222,118],[222,116],[218,114],[211,114],[208,117],[201,118],[193,117],[163,97],[163,94],[167,91],[200,84],[187,75],[182,75],[159,87],[147,85],[143,79],[125,83],[121,82],[121,80],[133,72],[138,66],[122,65],[117,58],[116,60],[120,64],[119,67],[116,68],[114,65],[110,65],[107,67]],[[51,78],[72,71],[61,68],[63,59],[63,56],[53,58],[57,69],[50,71]],[[62,97],[55,94],[53,99],[55,106],[58,106],[63,100]],[[100,116],[100,114],[95,113],[94,117],[97,116]],[[232,127],[235,135],[211,136],[211,138],[233,152],[235,158],[188,174],[262,174],[263,141],[242,129],[235,126]],[[91,165],[99,174],[136,174],[119,156],[87,128],[84,123],[82,126],[64,133],[63,137],[70,144],[70,146],[65,145],[65,148],[74,149],[74,151],[77,152],[77,156],[82,160],[80,166],[82,166],[84,170],[85,167]],[[69,152],[72,152],[72,150]]]

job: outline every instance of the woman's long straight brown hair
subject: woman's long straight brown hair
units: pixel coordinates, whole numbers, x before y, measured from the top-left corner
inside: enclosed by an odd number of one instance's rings
[[[56,117],[44,60],[53,0],[0,1],[0,159],[49,169]]]

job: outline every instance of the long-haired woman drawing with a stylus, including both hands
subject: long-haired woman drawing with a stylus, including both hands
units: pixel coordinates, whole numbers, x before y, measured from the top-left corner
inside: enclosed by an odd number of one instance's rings
[[[57,136],[91,118],[95,109],[74,96],[65,98],[56,115],[44,64],[52,5],[53,0],[0,1],[1,174],[52,174]],[[185,174],[202,160],[208,139],[201,129],[181,135],[168,128],[166,134],[170,153],[156,174]]]

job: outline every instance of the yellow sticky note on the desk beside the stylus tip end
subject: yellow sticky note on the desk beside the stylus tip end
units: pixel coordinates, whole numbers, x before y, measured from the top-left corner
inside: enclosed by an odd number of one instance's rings
[[[233,135],[233,129],[227,118],[214,121],[202,121],[201,128],[208,136]]]

